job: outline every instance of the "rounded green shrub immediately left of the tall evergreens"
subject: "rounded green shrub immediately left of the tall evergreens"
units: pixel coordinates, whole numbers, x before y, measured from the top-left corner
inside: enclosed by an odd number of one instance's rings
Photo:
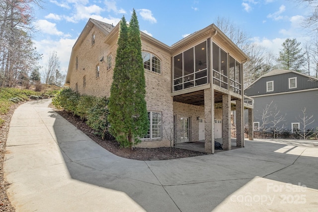
[[[86,124],[99,135],[101,139],[113,139],[108,131],[108,98],[98,98],[95,105],[89,110]]]

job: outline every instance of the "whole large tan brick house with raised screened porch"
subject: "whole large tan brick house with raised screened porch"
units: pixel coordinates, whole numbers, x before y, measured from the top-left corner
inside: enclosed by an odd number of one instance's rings
[[[81,94],[110,96],[119,24],[89,19],[75,43],[66,85]],[[214,139],[231,149],[231,110],[236,110],[237,146],[244,146],[242,64],[248,57],[214,24],[172,46],[141,32],[150,127],[139,147]],[[213,130],[214,129],[214,130]]]

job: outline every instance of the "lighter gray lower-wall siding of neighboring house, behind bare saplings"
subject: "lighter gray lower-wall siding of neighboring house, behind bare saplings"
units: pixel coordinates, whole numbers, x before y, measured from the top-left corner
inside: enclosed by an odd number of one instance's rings
[[[254,97],[254,122],[259,122],[260,126],[262,125],[261,117],[263,111],[266,108],[266,105],[270,104],[272,101],[271,107],[277,105],[277,111],[280,111],[280,115],[286,114],[285,121],[280,124],[280,127],[284,124],[285,130],[292,130],[291,123],[300,123],[300,129],[303,129],[304,125],[301,123],[299,116],[304,116],[302,110],[305,107],[306,116],[310,117],[314,115],[309,122],[315,120],[314,123],[306,126],[306,130],[312,128],[316,129],[318,127],[318,89]]]

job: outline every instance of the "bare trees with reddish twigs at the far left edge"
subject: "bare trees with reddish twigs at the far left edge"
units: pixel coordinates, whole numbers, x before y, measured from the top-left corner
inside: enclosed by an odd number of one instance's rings
[[[34,27],[31,4],[38,0],[2,0],[0,2],[0,83],[14,86],[21,73],[25,77],[41,58],[33,48],[30,33]]]

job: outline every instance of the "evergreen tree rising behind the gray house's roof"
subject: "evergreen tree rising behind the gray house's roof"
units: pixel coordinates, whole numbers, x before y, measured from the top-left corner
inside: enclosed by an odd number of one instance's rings
[[[305,60],[302,48],[299,47],[300,44],[296,39],[290,38],[287,38],[282,44],[283,49],[279,52],[278,62],[283,69],[302,72],[301,67]]]

